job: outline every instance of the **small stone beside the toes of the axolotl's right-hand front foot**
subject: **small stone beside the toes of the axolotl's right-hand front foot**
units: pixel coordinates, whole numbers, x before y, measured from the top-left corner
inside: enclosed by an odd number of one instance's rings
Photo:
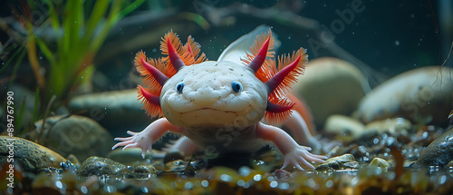
[[[315,171],[336,171],[345,169],[357,169],[359,162],[355,161],[352,154],[346,153],[342,156],[336,156],[326,160],[323,164],[318,165]]]

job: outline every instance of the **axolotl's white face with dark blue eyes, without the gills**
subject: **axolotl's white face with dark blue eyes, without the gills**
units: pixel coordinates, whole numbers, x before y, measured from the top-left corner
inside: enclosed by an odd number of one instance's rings
[[[207,61],[169,78],[160,106],[169,122],[182,127],[246,127],[263,118],[267,91],[246,65]]]

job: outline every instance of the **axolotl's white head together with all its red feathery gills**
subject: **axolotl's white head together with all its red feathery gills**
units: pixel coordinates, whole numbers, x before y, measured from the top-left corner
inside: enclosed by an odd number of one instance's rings
[[[281,123],[291,114],[293,103],[284,93],[304,72],[304,49],[279,57],[277,68],[270,33],[257,37],[252,54],[245,53],[246,64],[207,61],[190,36],[185,45],[172,32],[162,40],[160,49],[168,56],[147,59],[139,52],[135,58],[149,85],[139,85],[139,99],[150,115],[163,115],[182,127],[215,128],[246,127],[263,118]]]

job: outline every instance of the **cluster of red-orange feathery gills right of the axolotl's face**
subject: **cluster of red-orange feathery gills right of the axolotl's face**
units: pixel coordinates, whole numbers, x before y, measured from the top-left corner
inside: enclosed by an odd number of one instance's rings
[[[244,62],[248,63],[248,67],[255,72],[256,77],[265,83],[269,89],[265,122],[280,124],[291,115],[291,109],[294,105],[284,97],[284,94],[296,82],[296,76],[304,73],[303,63],[307,61],[307,55],[305,50],[301,48],[292,55],[281,56],[278,58],[279,66],[277,69],[274,52],[269,51],[272,50],[274,45],[271,33],[269,31],[269,34],[257,37],[255,45],[250,47],[252,54],[246,54]],[[267,39],[263,43],[262,40],[266,36]],[[256,52],[257,48],[260,48],[259,52]],[[266,59],[266,57],[269,57],[269,59]]]

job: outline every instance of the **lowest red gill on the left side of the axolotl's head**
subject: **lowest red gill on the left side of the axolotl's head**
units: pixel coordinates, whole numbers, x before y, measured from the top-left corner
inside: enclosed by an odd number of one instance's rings
[[[137,87],[139,89],[139,101],[144,103],[143,108],[149,116],[163,116],[162,108],[160,107],[159,95],[150,93],[147,89],[142,86]]]

